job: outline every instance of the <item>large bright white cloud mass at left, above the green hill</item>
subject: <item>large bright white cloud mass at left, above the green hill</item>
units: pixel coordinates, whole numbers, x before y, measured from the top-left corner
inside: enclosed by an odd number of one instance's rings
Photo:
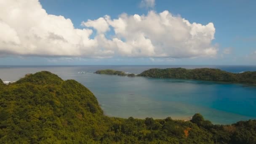
[[[47,14],[37,0],[0,1],[0,53],[93,56],[97,51],[91,29],[75,29],[70,19]]]

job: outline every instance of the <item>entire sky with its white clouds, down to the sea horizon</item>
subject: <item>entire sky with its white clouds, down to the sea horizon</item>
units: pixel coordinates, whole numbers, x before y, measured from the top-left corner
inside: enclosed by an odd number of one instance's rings
[[[0,0],[0,65],[256,65],[255,0]]]

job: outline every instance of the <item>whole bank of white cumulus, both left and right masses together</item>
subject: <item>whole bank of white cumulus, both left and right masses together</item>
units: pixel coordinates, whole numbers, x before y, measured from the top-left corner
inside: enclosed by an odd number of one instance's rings
[[[121,14],[83,21],[74,28],[63,16],[46,13],[38,0],[0,0],[0,55],[45,57],[215,56],[213,23],[190,23],[168,11]],[[114,35],[107,38],[113,29]],[[95,37],[91,38],[93,31]]]

